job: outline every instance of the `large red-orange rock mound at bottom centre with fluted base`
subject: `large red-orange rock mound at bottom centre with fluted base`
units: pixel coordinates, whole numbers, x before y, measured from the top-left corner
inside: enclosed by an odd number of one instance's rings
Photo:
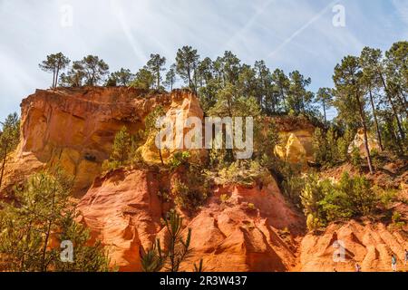
[[[227,202],[220,193],[230,195]],[[287,271],[296,264],[302,225],[277,187],[221,189],[188,225],[193,260],[203,258],[205,271]]]

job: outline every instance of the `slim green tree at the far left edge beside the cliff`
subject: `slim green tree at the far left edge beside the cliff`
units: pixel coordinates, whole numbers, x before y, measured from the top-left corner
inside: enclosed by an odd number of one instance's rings
[[[15,150],[18,141],[20,140],[20,119],[17,113],[9,114],[4,122],[0,122],[2,131],[0,132],[0,160],[2,167],[0,169],[0,187],[3,183],[3,176],[5,174],[5,163],[7,155]]]

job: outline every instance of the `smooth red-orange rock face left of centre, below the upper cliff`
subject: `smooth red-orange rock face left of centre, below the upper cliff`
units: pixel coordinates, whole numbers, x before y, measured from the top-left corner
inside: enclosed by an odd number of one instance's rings
[[[158,180],[143,170],[117,170],[96,179],[78,210],[92,237],[102,241],[121,271],[140,271],[140,248],[160,231]]]

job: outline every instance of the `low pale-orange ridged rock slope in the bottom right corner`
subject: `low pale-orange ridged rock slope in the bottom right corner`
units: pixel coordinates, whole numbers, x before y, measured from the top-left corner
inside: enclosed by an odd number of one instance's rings
[[[344,259],[334,259],[340,253],[340,248],[334,247],[335,241],[343,243]],[[381,223],[350,221],[344,225],[333,224],[323,234],[306,235],[299,249],[296,270],[332,272],[336,269],[347,272],[355,271],[355,263],[358,263],[363,272],[390,272],[391,256],[395,254],[399,270],[406,271],[407,266],[403,266],[403,251],[406,248],[406,237]]]

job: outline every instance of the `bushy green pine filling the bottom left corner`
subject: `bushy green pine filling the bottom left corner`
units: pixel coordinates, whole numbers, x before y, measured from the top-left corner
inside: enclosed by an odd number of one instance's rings
[[[56,169],[32,175],[0,212],[0,266],[8,271],[108,270],[102,245],[89,245],[70,202],[72,179]],[[60,247],[61,246],[61,247]]]

